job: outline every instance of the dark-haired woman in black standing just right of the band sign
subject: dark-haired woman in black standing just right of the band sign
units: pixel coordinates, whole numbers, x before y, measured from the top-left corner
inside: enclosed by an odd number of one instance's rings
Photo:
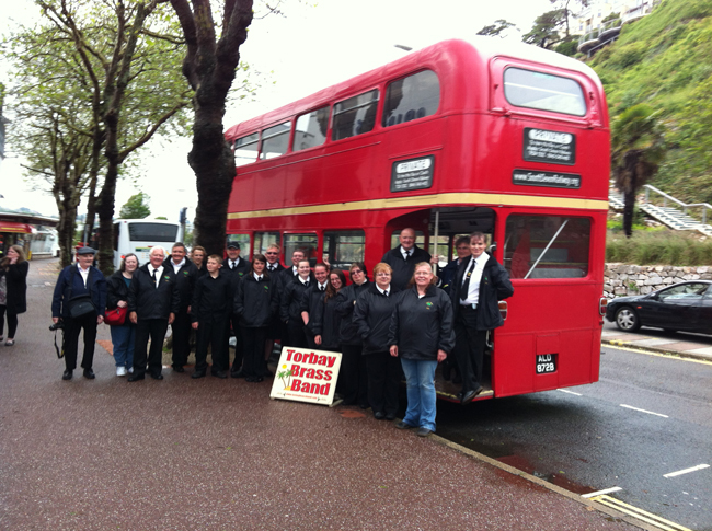
[[[341,316],[338,334],[341,343],[341,369],[336,389],[344,397],[344,405],[358,404],[363,409],[368,407],[368,379],[366,377],[366,359],[361,356],[363,342],[358,327],[354,323],[354,307],[356,299],[366,289],[368,270],[363,262],[354,262],[349,272],[353,284],[343,288],[336,297],[336,313]]]

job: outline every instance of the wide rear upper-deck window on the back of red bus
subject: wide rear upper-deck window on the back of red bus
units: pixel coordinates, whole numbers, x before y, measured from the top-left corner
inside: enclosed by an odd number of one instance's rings
[[[586,100],[581,85],[570,78],[521,68],[504,71],[504,95],[518,107],[584,116]]]

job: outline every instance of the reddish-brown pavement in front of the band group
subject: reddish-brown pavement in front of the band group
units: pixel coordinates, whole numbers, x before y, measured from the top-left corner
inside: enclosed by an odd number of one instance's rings
[[[129,384],[97,346],[96,379],[62,381],[47,331],[56,269],[30,270],[18,343],[0,347],[0,529],[635,529],[438,437],[272,401],[269,380],[164,370]]]

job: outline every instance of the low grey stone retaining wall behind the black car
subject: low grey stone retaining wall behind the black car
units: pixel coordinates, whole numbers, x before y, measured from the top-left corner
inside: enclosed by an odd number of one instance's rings
[[[604,269],[604,297],[646,295],[685,280],[712,280],[712,267],[606,264]]]

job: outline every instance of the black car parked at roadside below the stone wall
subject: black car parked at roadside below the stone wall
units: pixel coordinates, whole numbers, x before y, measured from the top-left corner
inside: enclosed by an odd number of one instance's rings
[[[654,326],[712,334],[712,281],[691,280],[648,295],[619,297],[608,303],[606,319],[627,332]]]

